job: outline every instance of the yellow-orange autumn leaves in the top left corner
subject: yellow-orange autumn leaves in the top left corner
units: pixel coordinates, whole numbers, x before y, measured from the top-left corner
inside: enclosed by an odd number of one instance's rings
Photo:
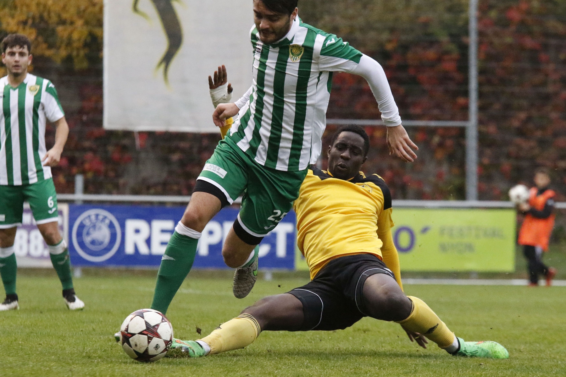
[[[33,55],[57,63],[71,57],[80,70],[88,67],[89,39],[102,41],[102,6],[102,0],[0,2],[1,28],[7,33],[27,35]]]

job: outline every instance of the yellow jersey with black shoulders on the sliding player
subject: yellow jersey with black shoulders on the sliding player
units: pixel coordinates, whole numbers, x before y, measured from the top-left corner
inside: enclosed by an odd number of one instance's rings
[[[366,177],[359,172],[350,180],[342,180],[312,167],[293,207],[297,213],[297,244],[305,255],[311,279],[331,259],[368,253],[383,259],[401,283],[391,237],[391,193],[380,176]]]

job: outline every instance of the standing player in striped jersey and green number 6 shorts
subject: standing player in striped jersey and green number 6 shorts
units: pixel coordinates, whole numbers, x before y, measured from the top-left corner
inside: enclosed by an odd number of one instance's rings
[[[8,75],[0,79],[0,274],[6,299],[0,311],[19,309],[16,294],[16,229],[22,224],[24,201],[29,203],[37,228],[49,246],[49,255],[63,286],[68,309],[83,309],[75,295],[69,253],[58,228],[57,194],[51,167],[59,163],[68,125],[55,86],[28,73],[31,42],[22,34],[2,41],[2,63]],[[57,127],[55,145],[46,150],[45,122]]]

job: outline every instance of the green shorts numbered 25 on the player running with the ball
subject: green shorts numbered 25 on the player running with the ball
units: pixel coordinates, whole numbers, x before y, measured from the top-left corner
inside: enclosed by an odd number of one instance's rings
[[[257,245],[289,213],[307,171],[261,166],[226,137],[204,165],[195,191],[214,194],[223,205],[243,194],[234,231],[242,241]]]

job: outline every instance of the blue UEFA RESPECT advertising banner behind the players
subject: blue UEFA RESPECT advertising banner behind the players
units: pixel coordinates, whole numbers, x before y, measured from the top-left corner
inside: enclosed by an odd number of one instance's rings
[[[158,267],[185,207],[69,205],[69,252],[74,266]],[[203,230],[194,268],[228,268],[222,259],[237,209],[220,211]],[[261,241],[260,268],[295,267],[295,213]]]

